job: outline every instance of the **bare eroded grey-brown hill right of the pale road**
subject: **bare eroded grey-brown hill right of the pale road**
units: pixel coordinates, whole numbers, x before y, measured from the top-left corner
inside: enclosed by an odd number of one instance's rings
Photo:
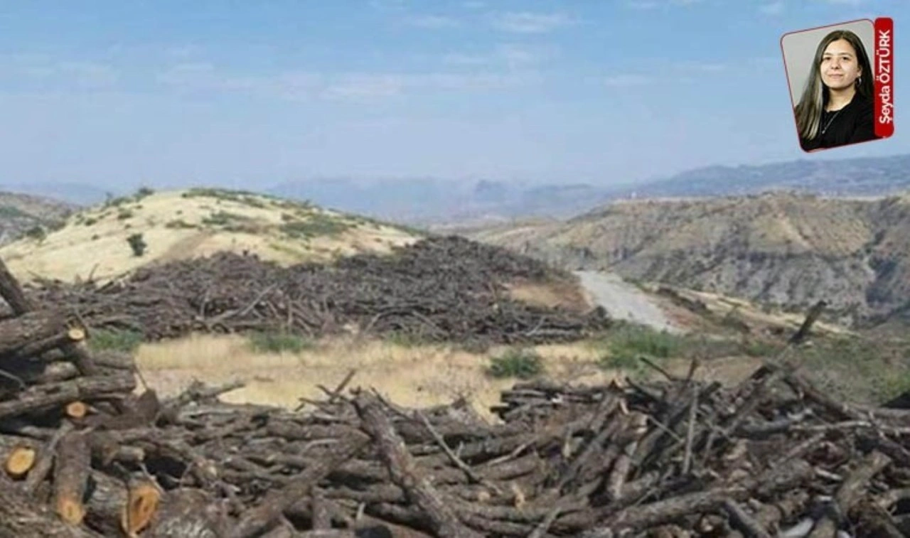
[[[819,299],[843,320],[907,309],[910,198],[775,193],[640,200],[570,220],[466,232],[571,269],[732,295],[788,309]]]

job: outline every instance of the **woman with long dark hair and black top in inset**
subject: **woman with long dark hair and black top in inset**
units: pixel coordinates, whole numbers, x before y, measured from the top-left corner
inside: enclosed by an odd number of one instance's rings
[[[804,150],[877,138],[872,78],[869,56],[858,36],[849,30],[824,36],[794,109]]]

